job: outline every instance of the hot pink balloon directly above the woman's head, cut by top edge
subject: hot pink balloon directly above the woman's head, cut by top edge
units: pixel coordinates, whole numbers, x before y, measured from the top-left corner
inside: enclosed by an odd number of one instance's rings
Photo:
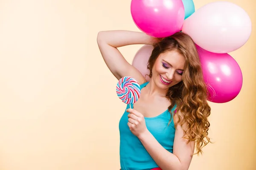
[[[182,0],[131,0],[135,25],[152,37],[168,37],[179,32],[184,22]]]

